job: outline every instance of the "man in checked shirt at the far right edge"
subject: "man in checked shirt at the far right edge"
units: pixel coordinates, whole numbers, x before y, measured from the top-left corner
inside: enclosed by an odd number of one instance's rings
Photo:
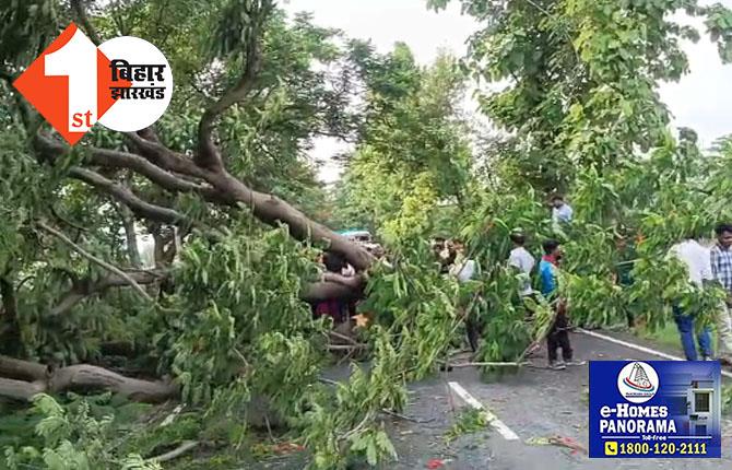
[[[717,316],[719,361],[732,365],[732,224],[717,225],[717,245],[711,248],[711,273],[727,291],[727,302]]]

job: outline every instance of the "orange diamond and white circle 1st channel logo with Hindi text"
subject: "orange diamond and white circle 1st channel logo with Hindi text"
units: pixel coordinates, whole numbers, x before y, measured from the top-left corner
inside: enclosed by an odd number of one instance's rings
[[[13,85],[73,145],[96,122],[120,131],[154,124],[170,103],[173,74],[152,44],[122,36],[96,47],[71,23]]]

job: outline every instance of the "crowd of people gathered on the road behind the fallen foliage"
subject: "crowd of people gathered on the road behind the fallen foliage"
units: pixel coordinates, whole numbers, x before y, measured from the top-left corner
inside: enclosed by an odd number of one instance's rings
[[[554,196],[551,205],[552,219],[556,224],[571,223],[572,209],[564,197]],[[681,345],[688,361],[699,359],[709,361],[717,357],[722,364],[732,365],[732,224],[720,223],[716,227],[716,234],[717,240],[711,248],[701,245],[698,234],[694,234],[674,245],[670,255],[675,256],[686,267],[689,283],[703,289],[709,284],[717,284],[727,292],[727,299],[720,305],[715,318],[719,336],[719,353],[713,354],[710,328],[696,328],[696,315],[689,309],[690,307],[678,302],[672,305],[672,312]],[[512,267],[519,277],[519,296],[524,301],[527,320],[531,321],[533,318],[531,305],[535,305],[539,294],[554,308],[554,320],[545,339],[548,367],[564,369],[567,365],[583,364],[574,359],[567,302],[559,297],[558,270],[563,259],[560,243],[555,239],[544,240],[542,256],[536,262],[534,256],[527,249],[527,235],[521,230],[512,231],[510,239],[513,247],[506,263]],[[634,260],[625,259],[630,252],[626,242],[626,237],[619,237],[616,246],[621,260],[617,263],[615,282],[623,287],[634,282],[631,277]],[[479,267],[465,252],[462,240],[436,237],[432,246],[440,272],[444,274],[454,277],[461,283],[470,282],[477,275]],[[382,257],[383,251],[376,255]],[[362,283],[353,267],[342,256],[328,251],[322,255],[320,261],[324,269],[322,281],[353,287]],[[534,280],[538,291],[534,290]],[[532,302],[527,302],[529,299]],[[314,314],[316,317],[330,316],[334,322],[340,324],[356,315],[356,304],[353,299],[327,299],[314,305]],[[627,324],[630,328],[636,327],[636,319],[630,312],[627,312]],[[482,328],[471,315],[465,316],[465,326],[470,345],[476,351]],[[538,349],[539,344],[533,344],[529,354]]]

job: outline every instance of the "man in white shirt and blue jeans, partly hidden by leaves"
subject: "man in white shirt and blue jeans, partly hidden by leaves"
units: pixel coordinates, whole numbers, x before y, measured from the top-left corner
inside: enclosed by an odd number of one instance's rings
[[[671,247],[671,255],[678,258],[688,270],[688,280],[694,285],[701,287],[706,281],[712,279],[711,260],[708,248],[703,247],[694,238],[686,238],[684,242]],[[684,354],[687,361],[697,361],[696,344],[694,342],[694,316],[682,310],[680,305],[673,306],[674,320],[678,327],[681,342],[684,346]],[[711,359],[711,332],[705,328],[697,336],[699,350],[704,361]]]

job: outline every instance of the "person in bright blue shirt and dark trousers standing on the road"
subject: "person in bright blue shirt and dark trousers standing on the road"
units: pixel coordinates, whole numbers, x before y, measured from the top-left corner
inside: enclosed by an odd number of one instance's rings
[[[557,269],[562,259],[562,247],[554,239],[544,242],[544,256],[539,263],[539,278],[541,280],[541,292],[544,297],[556,305],[556,317],[546,337],[548,349],[550,368],[562,371],[567,365],[579,365],[572,360],[572,349],[569,342],[569,321],[567,319],[567,307],[564,299],[557,297]],[[562,348],[562,359],[557,357],[557,349]]]

